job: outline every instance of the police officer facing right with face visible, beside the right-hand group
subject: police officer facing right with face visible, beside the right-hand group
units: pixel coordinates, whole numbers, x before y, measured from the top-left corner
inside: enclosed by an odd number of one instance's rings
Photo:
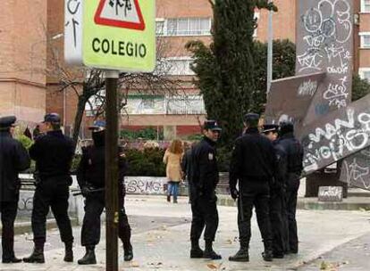
[[[212,243],[218,227],[217,197],[215,188],[219,181],[215,145],[221,128],[214,120],[206,120],[203,139],[191,152],[191,177],[189,177],[191,202],[190,258],[221,259]],[[199,247],[199,238],[205,229],[205,251]]]

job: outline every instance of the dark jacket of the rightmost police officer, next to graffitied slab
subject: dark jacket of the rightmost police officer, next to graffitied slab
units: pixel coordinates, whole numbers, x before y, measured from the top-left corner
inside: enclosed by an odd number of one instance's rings
[[[297,180],[303,170],[303,147],[293,133],[281,136],[276,144],[282,146],[287,159],[287,180]]]

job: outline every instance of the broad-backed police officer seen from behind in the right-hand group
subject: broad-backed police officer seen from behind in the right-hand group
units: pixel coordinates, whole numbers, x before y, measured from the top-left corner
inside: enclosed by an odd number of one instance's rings
[[[238,227],[240,250],[229,258],[231,261],[248,261],[250,219],[256,208],[256,218],[265,251],[263,259],[273,259],[273,236],[269,217],[270,182],[276,168],[273,144],[258,130],[259,115],[248,113],[244,117],[246,127],[243,136],[236,142],[231,156],[230,192],[238,199]],[[239,191],[236,185],[239,183]]]

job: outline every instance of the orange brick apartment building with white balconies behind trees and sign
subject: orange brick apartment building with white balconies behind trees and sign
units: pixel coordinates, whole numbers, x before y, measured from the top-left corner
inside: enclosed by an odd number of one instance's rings
[[[15,113],[20,119],[38,121],[45,111],[63,116],[65,127],[74,122],[77,99],[72,91],[58,91],[59,80],[46,75],[47,48],[58,48],[63,56],[62,0],[34,0],[32,4],[6,0],[0,15],[0,115]],[[273,15],[273,38],[295,41],[297,0],[275,0],[279,12]],[[15,12],[17,11],[17,12]],[[23,11],[23,12],[21,12]],[[27,12],[26,12],[27,11]],[[370,79],[370,0],[355,0],[354,67],[363,78]],[[26,15],[25,15],[26,14]],[[256,39],[266,41],[267,12],[256,12]],[[192,84],[191,58],[185,50],[187,41],[211,40],[212,10],[208,0],[156,0],[157,35],[164,40],[164,59],[169,73],[181,78],[184,95],[149,95],[132,93],[122,126],[164,128],[169,134],[198,132],[198,119],[205,116],[202,97]],[[46,33],[47,32],[47,33]],[[4,53],[5,52],[5,53]],[[47,89],[47,91],[46,91]],[[83,125],[91,121],[85,116]],[[81,135],[84,136],[84,135]]]

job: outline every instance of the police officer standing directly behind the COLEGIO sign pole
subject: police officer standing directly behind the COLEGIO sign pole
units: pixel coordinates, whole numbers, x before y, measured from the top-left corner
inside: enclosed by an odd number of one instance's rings
[[[79,259],[80,265],[96,264],[95,246],[100,241],[100,216],[105,208],[105,121],[96,121],[92,130],[94,145],[83,150],[77,180],[85,200],[85,217],[81,230],[81,244],[86,248],[85,256]],[[124,174],[126,159],[119,152],[119,229],[118,235],[123,243],[124,260],[133,258],[130,242],[131,229],[124,209]]]

